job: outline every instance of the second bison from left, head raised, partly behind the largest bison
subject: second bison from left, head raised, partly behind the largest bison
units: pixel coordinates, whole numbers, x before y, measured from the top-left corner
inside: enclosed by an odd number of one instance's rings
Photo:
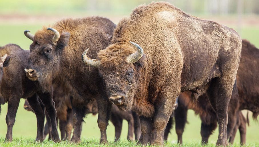
[[[85,66],[81,54],[85,49],[93,48],[92,57],[97,57],[99,50],[111,43],[115,26],[107,18],[86,17],[58,21],[52,28],[43,27],[35,35],[25,31],[33,41],[25,68],[29,79],[38,81],[42,91],[48,95],[51,95],[54,83],[61,86],[66,94],[73,96],[73,142],[80,142],[80,128],[86,105],[93,98],[97,99],[99,106],[100,143],[107,142],[106,128],[111,104],[98,70]],[[49,116],[56,118],[55,115]]]

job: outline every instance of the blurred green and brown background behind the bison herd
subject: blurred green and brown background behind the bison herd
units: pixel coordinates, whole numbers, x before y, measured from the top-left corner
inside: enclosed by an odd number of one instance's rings
[[[0,1],[0,46],[8,43],[20,45],[23,49],[29,49],[31,40],[23,35],[24,30],[35,33],[43,25],[47,26],[63,18],[87,17],[99,15],[118,23],[124,16],[129,16],[132,9],[148,0],[1,0]],[[223,25],[236,29],[243,39],[247,39],[259,48],[259,0],[170,0],[176,7],[194,16],[217,21]],[[35,138],[36,117],[32,112],[23,109],[24,99],[21,99],[13,127],[13,137]],[[0,115],[0,137],[4,138],[7,125],[5,115],[7,104],[2,106]],[[244,111],[244,114],[246,111]],[[259,143],[259,126],[257,121],[252,121],[250,113],[250,126],[247,127],[247,142]],[[183,141],[200,141],[201,121],[188,111],[188,122],[183,134]],[[128,124],[123,122],[121,138],[126,140]],[[169,135],[169,141],[176,141],[176,133],[173,129]],[[108,139],[114,139],[113,125],[107,128]],[[218,137],[218,129],[210,137],[209,141],[215,143]],[[88,115],[83,124],[82,138],[100,138],[97,125],[97,116]],[[237,132],[235,142],[240,142]]]

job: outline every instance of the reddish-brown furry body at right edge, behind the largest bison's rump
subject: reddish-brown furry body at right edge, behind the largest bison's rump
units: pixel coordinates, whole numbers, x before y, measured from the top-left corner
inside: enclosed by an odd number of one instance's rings
[[[259,114],[259,49],[247,40],[242,40],[242,53],[236,83],[240,96],[240,110],[250,110],[253,118]]]

